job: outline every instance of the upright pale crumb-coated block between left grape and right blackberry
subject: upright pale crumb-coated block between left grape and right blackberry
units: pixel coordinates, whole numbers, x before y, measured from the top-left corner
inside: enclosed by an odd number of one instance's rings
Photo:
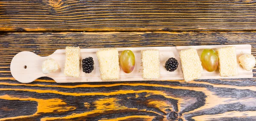
[[[143,50],[142,57],[142,77],[146,79],[157,79],[160,77],[159,50]]]

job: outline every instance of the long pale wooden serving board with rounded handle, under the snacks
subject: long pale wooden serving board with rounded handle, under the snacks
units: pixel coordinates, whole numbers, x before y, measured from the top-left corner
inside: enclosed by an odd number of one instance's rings
[[[198,55],[201,55],[203,49],[210,48],[216,49],[225,46],[236,46],[237,60],[245,53],[251,54],[251,45],[213,45],[213,46],[163,46],[163,47],[137,47],[137,48],[117,48],[119,55],[123,50],[130,49],[134,52],[136,62],[133,72],[126,74],[120,71],[120,78],[113,81],[149,81],[149,79],[142,78],[142,66],[141,66],[141,50],[146,49],[159,49],[160,51],[160,78],[154,79],[154,81],[161,80],[183,80],[182,69],[179,64],[177,70],[174,72],[166,71],[164,64],[169,58],[176,58],[178,63],[180,63],[180,58],[178,52],[182,49],[195,48],[198,51]],[[94,60],[94,70],[90,74],[82,72],[80,67],[80,78],[67,77],[64,75],[64,64],[65,64],[65,50],[56,50],[52,55],[41,57],[32,52],[20,52],[12,59],[11,62],[11,73],[12,76],[21,83],[30,83],[35,81],[40,77],[49,77],[54,79],[57,83],[67,83],[67,82],[103,82],[100,78],[99,73],[99,63],[96,56],[96,52],[99,49],[81,49],[80,60],[87,57],[92,57]],[[200,56],[199,56],[200,57]],[[44,60],[52,58],[56,60],[60,66],[60,69],[56,72],[43,74],[42,73],[42,63]],[[238,62],[239,63],[239,60]],[[26,68],[25,68],[26,66]],[[203,71],[202,77],[200,79],[219,79],[219,78],[252,78],[253,72],[244,70],[238,64],[239,75],[233,77],[221,77],[219,76],[218,69],[215,72]]]

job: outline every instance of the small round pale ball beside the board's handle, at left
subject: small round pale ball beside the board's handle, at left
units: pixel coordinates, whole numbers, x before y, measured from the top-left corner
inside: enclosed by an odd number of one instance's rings
[[[56,60],[49,58],[47,60],[44,60],[42,64],[42,72],[44,74],[55,72],[59,69],[58,63]]]

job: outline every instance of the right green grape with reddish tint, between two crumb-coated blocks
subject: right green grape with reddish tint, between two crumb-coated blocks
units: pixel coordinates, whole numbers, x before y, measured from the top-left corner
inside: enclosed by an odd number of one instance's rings
[[[201,55],[202,65],[208,72],[218,68],[218,55],[213,49],[204,49]]]

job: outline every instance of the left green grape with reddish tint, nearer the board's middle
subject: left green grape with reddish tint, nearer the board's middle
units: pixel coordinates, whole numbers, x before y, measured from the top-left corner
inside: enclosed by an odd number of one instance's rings
[[[135,65],[135,56],[131,50],[124,50],[120,56],[120,64],[125,73],[131,73]]]

